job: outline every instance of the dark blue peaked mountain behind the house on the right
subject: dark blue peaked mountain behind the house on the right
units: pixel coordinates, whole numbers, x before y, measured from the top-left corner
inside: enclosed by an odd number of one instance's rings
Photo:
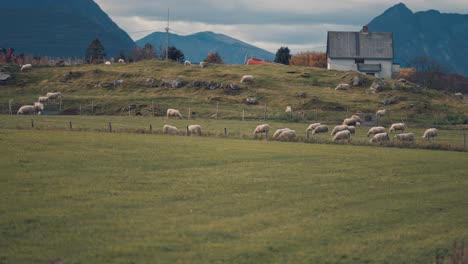
[[[413,13],[400,3],[368,26],[371,31],[393,32],[395,61],[403,67],[414,57],[428,56],[448,72],[468,76],[468,15],[436,10]]]

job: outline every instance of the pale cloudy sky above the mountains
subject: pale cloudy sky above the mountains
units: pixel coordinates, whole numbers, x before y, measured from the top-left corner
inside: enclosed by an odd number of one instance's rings
[[[330,30],[359,30],[399,3],[390,0],[95,0],[134,40],[164,31],[169,9],[171,33],[213,31],[270,52],[323,51]],[[413,12],[436,9],[468,14],[468,0],[408,0]]]

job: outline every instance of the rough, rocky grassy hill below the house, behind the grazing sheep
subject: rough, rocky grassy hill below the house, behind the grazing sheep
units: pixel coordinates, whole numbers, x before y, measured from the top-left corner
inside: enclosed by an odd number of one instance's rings
[[[360,76],[364,85],[349,91],[335,91],[340,83],[351,82],[357,73],[328,71],[297,66],[246,66],[210,65],[185,67],[173,62],[144,61],[134,64],[82,65],[72,67],[34,67],[29,72],[19,72],[15,66],[1,66],[13,74],[12,80],[1,86],[0,112],[8,112],[8,100],[14,100],[14,111],[31,104],[38,96],[50,91],[63,95],[62,114],[123,115],[132,105],[132,114],[164,115],[169,107],[178,108],[186,115],[189,110],[196,117],[210,117],[218,108],[219,118],[240,118],[242,111],[247,119],[328,120],[340,122],[355,112],[375,113],[377,109],[389,110],[383,122],[400,121],[423,126],[468,123],[466,100],[436,90],[425,89],[409,83],[391,81],[388,90],[371,94],[369,86],[374,81]],[[240,84],[245,74],[255,77],[254,84]],[[155,84],[146,84],[148,78]],[[163,78],[181,81],[211,81],[220,84],[240,85],[240,91],[227,94],[224,89],[165,88],[158,87]],[[115,80],[124,84],[114,88]],[[383,100],[399,97],[399,103],[384,106]],[[246,105],[248,97],[258,98],[258,105]],[[91,106],[94,106],[91,110]],[[284,113],[287,105],[295,113]],[[46,106],[46,113],[58,113],[58,104]]]

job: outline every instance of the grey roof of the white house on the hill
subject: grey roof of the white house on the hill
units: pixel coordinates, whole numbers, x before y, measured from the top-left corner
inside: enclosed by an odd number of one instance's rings
[[[393,33],[330,31],[327,54],[332,59],[393,59]]]

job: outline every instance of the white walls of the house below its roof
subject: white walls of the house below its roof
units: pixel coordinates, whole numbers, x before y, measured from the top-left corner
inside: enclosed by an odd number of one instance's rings
[[[380,64],[382,67],[381,72],[375,73],[375,77],[391,79],[392,78],[392,60],[365,60],[364,63]],[[357,64],[354,59],[331,59],[328,58],[328,69],[338,71],[358,71]]]

